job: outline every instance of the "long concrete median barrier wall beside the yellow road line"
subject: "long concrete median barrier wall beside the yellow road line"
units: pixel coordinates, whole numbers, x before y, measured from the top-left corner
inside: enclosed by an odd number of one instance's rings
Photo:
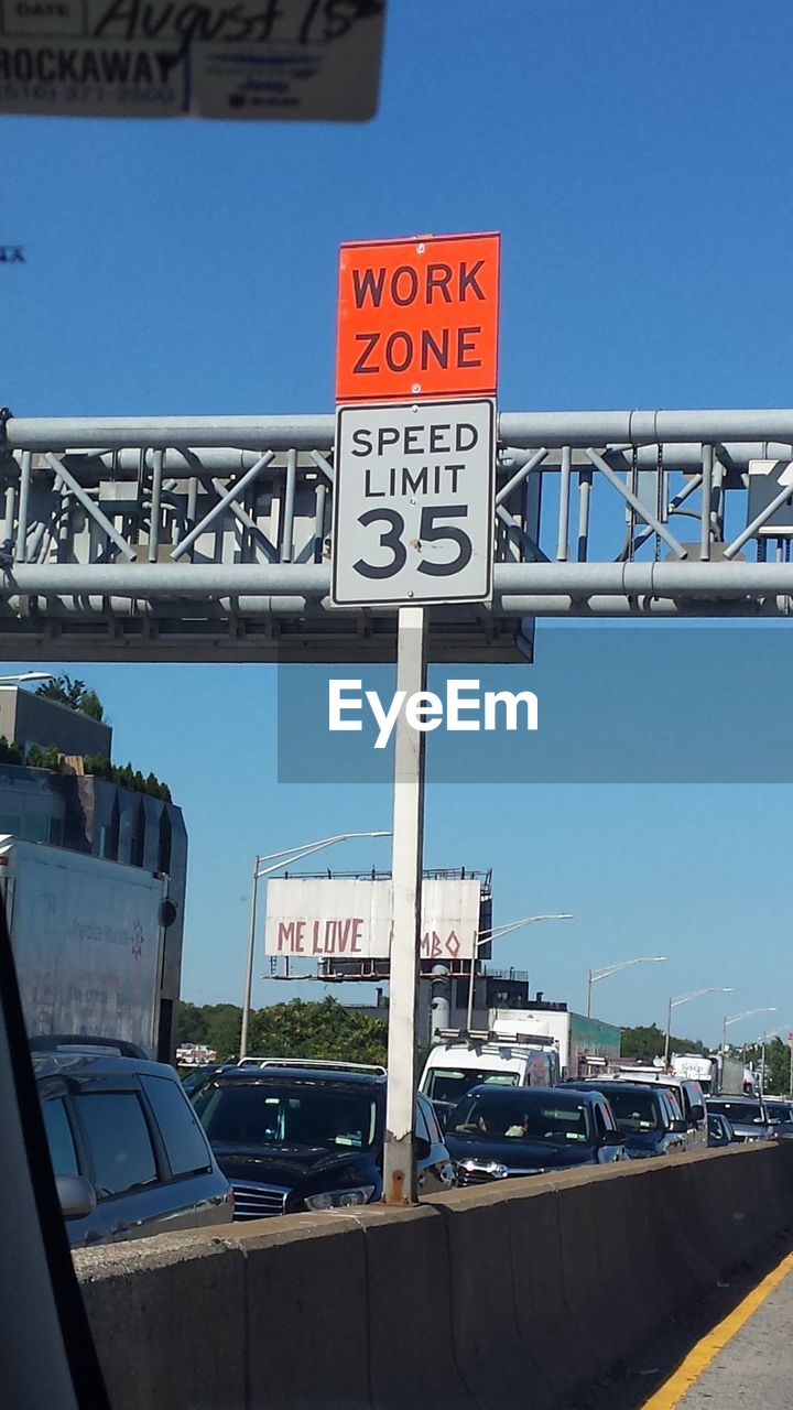
[[[793,1142],[75,1253],[114,1410],[552,1410],[793,1228]]]

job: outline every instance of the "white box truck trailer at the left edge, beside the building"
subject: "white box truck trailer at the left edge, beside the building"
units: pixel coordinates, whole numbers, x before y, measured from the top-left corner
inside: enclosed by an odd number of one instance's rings
[[[0,835],[0,895],[28,1035],[158,1048],[168,877]]]

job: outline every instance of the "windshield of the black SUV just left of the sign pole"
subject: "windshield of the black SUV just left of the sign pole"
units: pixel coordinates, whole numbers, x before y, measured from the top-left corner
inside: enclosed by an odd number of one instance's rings
[[[375,1097],[351,1087],[212,1083],[193,1104],[213,1146],[368,1151],[375,1139]]]

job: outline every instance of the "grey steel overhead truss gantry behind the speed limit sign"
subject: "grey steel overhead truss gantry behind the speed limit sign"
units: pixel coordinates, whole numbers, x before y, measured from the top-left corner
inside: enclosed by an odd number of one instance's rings
[[[388,657],[392,609],[327,598],[333,434],[8,417],[0,656]],[[759,496],[752,461],[773,470]],[[432,609],[432,656],[514,658],[540,615],[787,616],[790,465],[793,410],[502,413],[492,606]]]

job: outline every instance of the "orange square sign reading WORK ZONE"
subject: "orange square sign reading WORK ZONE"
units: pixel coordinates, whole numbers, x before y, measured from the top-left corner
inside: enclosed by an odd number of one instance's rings
[[[494,396],[501,235],[343,244],[336,400]]]

